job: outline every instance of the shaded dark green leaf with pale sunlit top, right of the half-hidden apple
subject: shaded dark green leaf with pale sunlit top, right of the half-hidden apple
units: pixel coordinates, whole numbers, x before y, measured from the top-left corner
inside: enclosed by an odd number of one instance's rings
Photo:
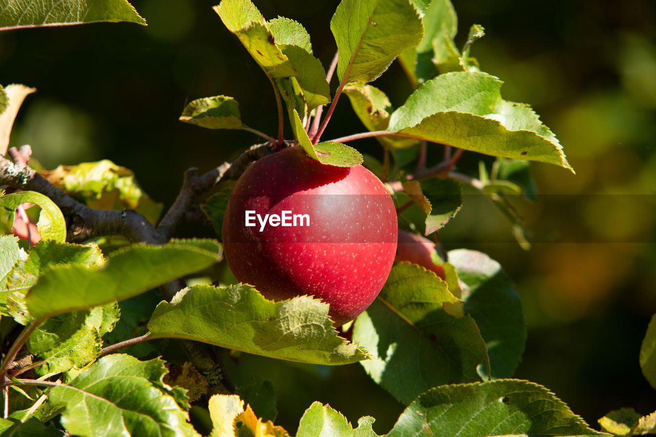
[[[509,378],[522,360],[526,327],[520,295],[501,265],[484,253],[457,249],[449,251],[449,263],[468,290],[463,293],[464,310],[476,320],[487,345],[493,378]],[[481,375],[487,372],[479,369]]]

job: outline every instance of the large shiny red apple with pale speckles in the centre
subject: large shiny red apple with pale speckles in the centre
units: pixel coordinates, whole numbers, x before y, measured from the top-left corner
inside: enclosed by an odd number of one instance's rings
[[[309,226],[246,226],[246,211],[307,214]],[[287,220],[289,223],[291,220]],[[251,222],[252,223],[252,222]],[[304,222],[306,224],[306,222]],[[224,254],[237,280],[274,300],[313,295],[330,304],[335,325],[377,297],[396,254],[394,202],[361,165],[323,165],[289,148],[258,159],[230,195]]]

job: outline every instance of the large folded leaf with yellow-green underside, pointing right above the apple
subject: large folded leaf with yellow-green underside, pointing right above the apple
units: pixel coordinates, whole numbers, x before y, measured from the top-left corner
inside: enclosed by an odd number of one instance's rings
[[[530,106],[503,100],[501,85],[487,73],[440,75],[421,85],[392,114],[389,129],[482,154],[571,170],[554,134]]]

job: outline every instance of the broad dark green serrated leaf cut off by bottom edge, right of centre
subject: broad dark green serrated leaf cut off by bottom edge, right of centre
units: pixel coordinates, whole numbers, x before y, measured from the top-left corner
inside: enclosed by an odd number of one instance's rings
[[[387,437],[607,436],[544,386],[506,379],[447,385],[421,394]]]

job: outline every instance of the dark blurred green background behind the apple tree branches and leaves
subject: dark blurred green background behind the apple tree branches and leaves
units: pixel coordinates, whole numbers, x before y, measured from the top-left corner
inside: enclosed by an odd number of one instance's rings
[[[102,158],[133,169],[157,201],[170,205],[188,167],[209,170],[259,139],[244,131],[209,131],[177,121],[186,102],[234,96],[248,125],[274,135],[270,85],[211,10],[217,1],[134,0],[148,20],[0,33],[0,83],[38,89],[28,96],[12,144],[31,144],[47,168]],[[264,1],[266,18],[282,15],[310,31],[329,64],[329,20],[337,2]],[[506,100],[529,103],[564,145],[577,171],[533,164],[541,196],[517,201],[535,231],[523,251],[501,214],[467,192],[441,237],[499,260],[515,281],[529,328],[516,377],[546,385],[593,427],[623,406],[656,409],[642,377],[640,343],[656,312],[656,4],[650,0],[524,2],[454,0],[459,45],[471,24],[487,35],[472,55],[506,81]],[[374,85],[395,106],[411,92],[398,64]],[[335,84],[333,83],[333,89]],[[344,98],[323,136],[362,131]],[[289,128],[287,128],[289,133]],[[380,156],[374,140],[352,144]],[[436,162],[440,146],[430,148]],[[459,170],[476,175],[463,155]],[[211,230],[188,228],[181,235]],[[237,357],[236,357],[237,359]],[[403,407],[359,365],[312,367],[238,357],[236,381],[259,373],[274,383],[277,423],[295,430],[314,400],[355,423],[377,419],[386,432]]]

